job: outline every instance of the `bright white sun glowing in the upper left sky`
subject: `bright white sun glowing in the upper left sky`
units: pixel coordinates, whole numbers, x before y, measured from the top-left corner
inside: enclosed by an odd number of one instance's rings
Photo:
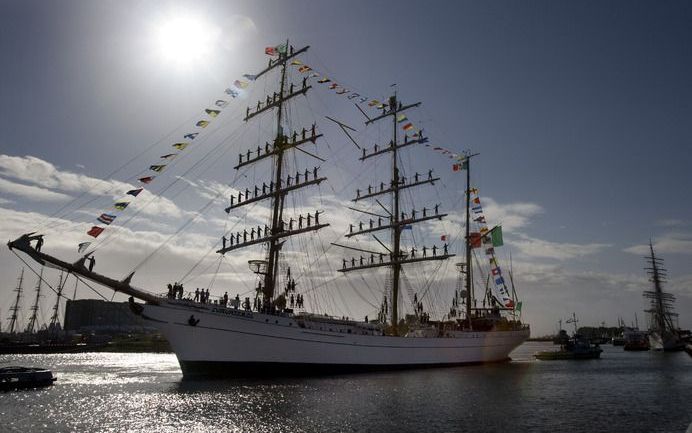
[[[179,14],[161,20],[154,38],[163,60],[178,65],[193,65],[207,57],[220,30],[200,16]]]

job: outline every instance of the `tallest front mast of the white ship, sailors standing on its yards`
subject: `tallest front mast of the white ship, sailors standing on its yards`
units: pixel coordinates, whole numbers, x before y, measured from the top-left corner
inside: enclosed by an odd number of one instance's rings
[[[263,276],[264,284],[260,283],[259,288],[263,294],[265,307],[271,305],[276,292],[279,255],[281,246],[285,242],[284,238],[319,230],[329,225],[319,223],[320,211],[316,211],[314,214],[308,213],[306,216],[300,215],[298,221],[291,217],[288,222],[284,219],[283,214],[284,200],[288,193],[307,186],[318,185],[327,179],[326,177],[318,176],[318,167],[305,169],[304,171],[297,170],[295,176],[291,176],[292,173],[289,173],[284,177],[284,170],[286,169],[284,167],[284,158],[287,152],[293,149],[302,150],[299,149],[299,146],[309,142],[316,143],[317,139],[322,137],[322,134],[317,133],[315,124],[308,128],[302,128],[300,132],[294,130],[288,134],[284,133],[284,104],[296,96],[307,94],[308,90],[312,88],[312,86],[307,84],[307,78],[304,78],[299,86],[293,83],[288,84],[286,66],[290,59],[306,52],[308,48],[310,47],[306,46],[294,51],[293,47],[286,41],[285,48],[279,50],[279,57],[270,59],[267,68],[255,77],[257,79],[274,68],[280,67],[279,91],[274,92],[272,95],[267,95],[264,100],[258,101],[254,108],[248,107],[244,119],[247,122],[255,116],[276,109],[276,136],[273,139],[273,143],[267,142],[264,148],[258,146],[256,150],[248,150],[244,154],[241,153],[238,157],[238,164],[234,167],[238,170],[241,167],[271,158],[274,177],[269,184],[263,182],[261,186],[255,185],[253,189],[246,188],[244,192],[239,191],[237,197],[230,197],[230,206],[226,208],[226,212],[230,212],[237,207],[268,199],[271,201],[269,225],[252,227],[250,231],[244,229],[242,232],[231,233],[228,239],[229,244],[226,244],[226,238],[224,237],[223,247],[217,251],[220,254],[225,254],[232,250],[256,244],[267,246],[266,261],[252,261],[253,266],[256,265],[253,271]],[[303,224],[304,220],[306,221],[305,225]]]

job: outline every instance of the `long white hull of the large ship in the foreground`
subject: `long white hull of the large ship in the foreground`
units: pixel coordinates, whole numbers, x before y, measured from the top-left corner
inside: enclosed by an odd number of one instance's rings
[[[318,374],[499,362],[508,360],[509,353],[529,337],[528,328],[455,331],[453,336],[434,338],[358,335],[355,328],[335,322],[306,326],[293,316],[175,301],[145,304],[141,315],[168,339],[185,376]]]

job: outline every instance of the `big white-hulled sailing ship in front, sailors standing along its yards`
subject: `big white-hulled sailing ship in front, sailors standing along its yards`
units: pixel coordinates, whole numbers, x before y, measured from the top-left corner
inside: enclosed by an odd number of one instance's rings
[[[343,259],[337,266],[338,272],[346,274],[377,268],[388,269],[387,287],[384,288],[380,313],[374,320],[366,317],[359,321],[294,310],[294,295],[296,302],[298,299],[302,300],[302,295],[300,288],[296,287],[295,279],[291,277],[290,266],[284,264],[290,259],[284,244],[295,236],[316,232],[329,225],[319,210],[298,215],[297,218],[289,217],[285,212],[285,203],[290,194],[327,180],[318,172],[318,167],[303,170],[296,162],[296,155],[307,154],[321,159],[301,149],[301,146],[316,143],[322,134],[316,131],[315,124],[307,128],[292,128],[287,116],[288,102],[296,96],[306,95],[312,87],[305,79],[302,85],[294,86],[287,82],[288,66],[299,64],[296,57],[308,48],[294,51],[291,47],[290,51],[284,49],[278,53],[272,51],[278,57],[270,60],[266,69],[252,76],[253,80],[259,79],[279,68],[276,91],[267,96],[266,102],[263,99],[257,103],[256,108],[248,107],[244,119],[248,122],[265,113],[275,112],[274,136],[266,145],[241,153],[234,168],[238,170],[264,163],[267,166],[261,172],[271,173],[272,177],[262,185],[239,188],[237,196],[230,198],[226,211],[233,212],[250,203],[269,202],[270,216],[263,226],[248,227],[242,232],[231,233],[228,239],[224,234],[223,246],[217,252],[229,254],[242,248],[264,247],[264,257],[249,261],[251,271],[257,276],[257,296],[253,305],[249,298],[242,302],[201,303],[179,299],[181,297],[176,297],[174,293],[169,296],[155,295],[133,287],[133,274],[118,281],[87,269],[85,260],[88,254],[72,263],[39,251],[31,244],[37,239],[37,235],[33,233],[21,236],[8,246],[26,253],[43,265],[65,270],[130,295],[133,311],[160,329],[168,339],[185,376],[314,374],[508,360],[509,353],[529,337],[530,331],[528,325],[522,324],[519,319],[520,304],[517,303],[513,282],[511,294],[505,287],[504,294],[500,297],[492,295],[491,290],[486,287],[482,298],[483,307],[476,305],[472,250],[481,245],[487,246],[492,230],[488,231],[484,227],[480,233],[470,231],[473,221],[480,220],[475,218],[472,221],[470,217],[470,208],[475,206],[471,204],[472,200],[480,203],[471,195],[472,191],[477,194],[477,190],[470,184],[470,162],[474,155],[466,154],[463,161],[463,169],[466,170],[464,262],[458,264],[461,287],[457,287],[455,291],[451,310],[444,317],[433,319],[423,311],[422,303],[417,304],[416,295],[413,295],[414,314],[403,319],[401,317],[403,268],[413,264],[445,261],[454,254],[449,251],[446,243],[441,247],[404,247],[402,243],[404,230],[426,221],[441,220],[447,214],[441,212],[438,205],[422,210],[419,208],[418,212],[405,211],[402,207],[400,200],[404,191],[410,192],[416,187],[434,184],[440,178],[430,170],[428,175],[413,175],[408,172],[408,180],[406,179],[406,172],[400,166],[404,148],[425,143],[427,139],[423,137],[422,131],[417,137],[398,136],[401,116],[420,103],[404,105],[396,94],[386,104],[380,104],[381,113],[377,116],[370,117],[366,114],[366,125],[386,120],[392,123],[391,141],[379,147],[375,145],[371,150],[363,149],[362,155],[358,155],[361,161],[389,156],[391,163],[388,176],[375,187],[368,186],[356,191],[352,200],[356,204],[366,200],[375,201],[384,215],[382,212],[378,215],[350,208],[377,219],[352,224],[344,235],[345,238],[372,235],[382,250],[366,250],[333,243],[365,254]],[[292,176],[294,173],[295,176]],[[378,200],[380,197],[388,197],[390,205],[381,203]],[[388,233],[389,242],[377,238],[376,232]],[[300,245],[299,242],[295,244]],[[487,248],[486,254],[489,254],[491,266],[495,264],[492,268],[493,281],[505,285],[504,279],[499,275],[494,250]],[[488,278],[491,278],[490,272]],[[144,303],[136,303],[135,299]]]

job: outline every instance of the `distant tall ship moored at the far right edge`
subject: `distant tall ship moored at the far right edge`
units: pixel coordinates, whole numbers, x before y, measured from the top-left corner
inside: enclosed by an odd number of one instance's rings
[[[644,298],[650,305],[649,309],[645,310],[649,316],[649,346],[652,350],[683,350],[685,343],[677,326],[678,314],[673,309],[675,296],[663,291],[663,283],[667,277],[663,259],[656,257],[651,243],[649,243],[649,251],[650,255],[646,257],[649,267],[646,268],[646,272],[653,290],[644,292]]]

